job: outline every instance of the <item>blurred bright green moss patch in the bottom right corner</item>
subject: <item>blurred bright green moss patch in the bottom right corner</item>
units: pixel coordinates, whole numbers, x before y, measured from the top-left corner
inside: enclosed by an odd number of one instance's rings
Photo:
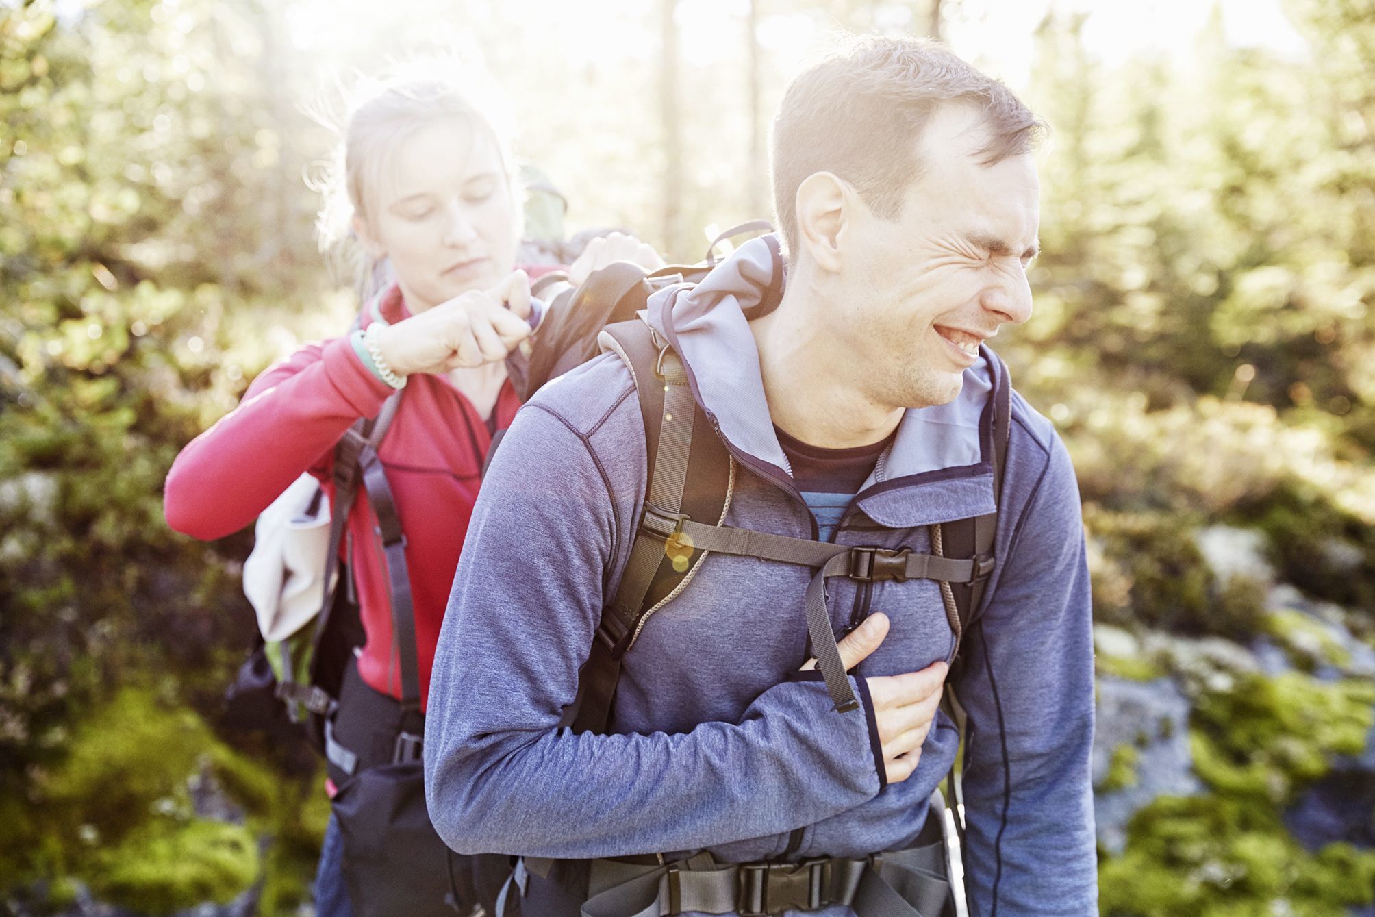
[[[1133,817],[1126,852],[1099,863],[1103,917],[1327,917],[1372,901],[1375,852],[1309,854],[1246,797],[1156,799]]]

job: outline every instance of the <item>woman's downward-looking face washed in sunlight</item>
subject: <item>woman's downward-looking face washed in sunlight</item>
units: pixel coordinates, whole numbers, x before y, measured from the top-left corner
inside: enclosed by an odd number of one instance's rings
[[[421,128],[380,186],[355,231],[374,257],[390,258],[411,312],[490,289],[514,269],[520,214],[487,131],[459,118]]]

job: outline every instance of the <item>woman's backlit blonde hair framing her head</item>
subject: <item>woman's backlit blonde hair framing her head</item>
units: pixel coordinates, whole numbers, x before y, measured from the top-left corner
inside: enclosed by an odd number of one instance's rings
[[[320,252],[360,297],[367,300],[385,286],[389,271],[364,252],[353,234],[353,217],[370,219],[370,205],[392,170],[396,150],[437,121],[456,120],[473,137],[485,135],[496,144],[520,225],[524,188],[510,148],[510,106],[484,73],[452,59],[408,60],[375,77],[359,74],[351,89],[340,87],[340,114],[324,106],[312,111],[338,142],[330,161],[307,183],[323,195],[315,220]]]

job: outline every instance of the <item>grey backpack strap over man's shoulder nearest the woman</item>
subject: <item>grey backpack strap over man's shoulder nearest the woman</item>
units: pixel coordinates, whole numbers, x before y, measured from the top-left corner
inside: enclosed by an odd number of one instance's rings
[[[645,425],[648,491],[630,560],[579,672],[578,698],[562,726],[602,733],[610,720],[620,660],[644,620],[676,594],[705,551],[679,522],[719,522],[729,505],[733,466],[711,422],[693,400],[678,355],[642,320],[608,326],[601,342],[630,368]]]

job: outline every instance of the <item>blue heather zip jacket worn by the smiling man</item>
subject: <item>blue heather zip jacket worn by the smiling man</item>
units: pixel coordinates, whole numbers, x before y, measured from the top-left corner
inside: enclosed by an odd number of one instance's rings
[[[698,403],[737,456],[727,525],[813,536],[773,433],[747,324],[770,276],[763,242],[693,290],[650,304]],[[993,509],[991,378],[910,410],[836,542],[930,550],[927,525]],[[964,852],[971,913],[1097,913],[1089,748],[1093,659],[1078,488],[1050,425],[1013,396],[997,571],[956,685],[969,715]],[[811,572],[708,555],[624,660],[613,734],[557,729],[573,700],[645,499],[632,377],[604,355],[517,415],[483,485],[440,634],[425,731],[430,815],[461,852],[594,858],[710,850],[718,861],[865,855],[906,847],[958,741],[940,715],[917,771],[883,785],[862,709],[832,709],[806,659]],[[832,623],[855,586],[833,579]],[[858,675],[945,659],[936,583],[873,584],[892,626]],[[837,914],[846,909],[832,909]]]

